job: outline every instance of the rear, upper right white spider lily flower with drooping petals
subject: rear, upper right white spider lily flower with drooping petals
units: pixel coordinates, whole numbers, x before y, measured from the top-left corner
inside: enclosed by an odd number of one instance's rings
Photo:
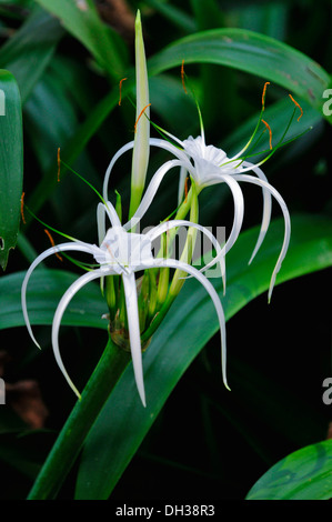
[[[256,252],[259,251],[269,229],[272,211],[272,197],[278,201],[281,207],[285,227],[283,244],[270,281],[268,297],[270,301],[276,273],[279,272],[282,260],[284,259],[288,251],[291,233],[291,220],[284,200],[282,199],[280,193],[268,182],[265,174],[260,169],[261,163],[253,164],[249,161],[241,159],[243,150],[235,154],[233,158],[228,158],[227,153],[222,149],[218,149],[217,147],[211,144],[205,144],[203,130],[201,132],[201,135],[197,138],[189,137],[187,140],[183,141],[179,140],[177,137],[170,134],[169,132],[165,132],[165,134],[171,138],[175,143],[178,143],[179,147],[159,138],[151,138],[150,145],[162,148],[171,152],[177,159],[167,161],[157,170],[150,181],[150,184],[147,187],[145,193],[142,198],[139,208],[137,209],[132,219],[124,224],[124,228],[127,230],[130,230],[134,224],[137,224],[137,222],[142,219],[142,217],[145,214],[149,207],[151,205],[152,200],[157,194],[158,189],[165,174],[171,169],[180,167],[181,170],[179,202],[181,201],[183,195],[183,185],[187,173],[190,174],[192,181],[195,183],[198,192],[203,190],[205,187],[211,187],[219,183],[227,183],[229,185],[234,201],[234,219],[231,233],[221,252],[221,255],[225,255],[225,253],[233,247],[234,242],[237,241],[243,222],[244,200],[239,182],[247,182],[259,185],[262,189],[263,195],[262,222],[255,247],[249,260],[249,264],[252,262]],[[108,194],[108,183],[115,161],[118,161],[118,159],[132,147],[133,142],[127,143],[112,158],[109,168],[105,172],[103,183],[104,198],[107,198]],[[254,175],[248,175],[249,172]],[[213,262],[215,262],[218,259],[214,258]],[[210,262],[207,267],[204,267],[203,270],[208,270],[213,264],[213,262]]]

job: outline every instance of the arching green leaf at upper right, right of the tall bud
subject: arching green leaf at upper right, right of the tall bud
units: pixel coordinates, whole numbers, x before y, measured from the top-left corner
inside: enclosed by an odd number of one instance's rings
[[[184,63],[217,63],[278,83],[322,111],[331,83],[324,69],[308,56],[273,38],[244,29],[212,29],[168,46],[149,61],[150,74]]]

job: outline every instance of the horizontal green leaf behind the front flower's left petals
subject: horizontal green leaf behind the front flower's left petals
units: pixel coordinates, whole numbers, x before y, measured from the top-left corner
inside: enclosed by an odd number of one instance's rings
[[[24,327],[21,307],[21,287],[26,272],[0,278],[0,330]],[[61,270],[36,270],[27,292],[31,324],[52,324],[57,305],[78,275]],[[63,324],[107,329],[101,319],[107,305],[98,284],[88,284],[72,300],[63,315]],[[27,337],[28,339],[28,337]]]

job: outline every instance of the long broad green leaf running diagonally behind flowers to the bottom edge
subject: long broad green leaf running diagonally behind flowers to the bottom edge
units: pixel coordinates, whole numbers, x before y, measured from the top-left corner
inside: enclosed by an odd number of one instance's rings
[[[298,215],[293,217],[292,225],[292,242],[278,283],[332,265],[332,221],[316,215]],[[222,297],[221,282],[214,281],[227,319],[269,287],[282,241],[282,223],[273,223],[256,260],[248,267],[256,234],[258,229],[243,233],[229,252],[225,297]],[[270,307],[273,307],[273,295]],[[209,295],[195,281],[187,281],[144,352],[147,409],[137,396],[130,365],[87,439],[77,499],[99,500],[110,495],[172,389],[217,331],[218,321]],[[220,385],[221,395],[229,393],[222,382]],[[232,382],[230,385],[232,388]]]

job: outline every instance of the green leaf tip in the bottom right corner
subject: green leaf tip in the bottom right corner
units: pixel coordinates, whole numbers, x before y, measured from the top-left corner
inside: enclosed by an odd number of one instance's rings
[[[311,444],[274,464],[247,500],[332,499],[332,440]]]

